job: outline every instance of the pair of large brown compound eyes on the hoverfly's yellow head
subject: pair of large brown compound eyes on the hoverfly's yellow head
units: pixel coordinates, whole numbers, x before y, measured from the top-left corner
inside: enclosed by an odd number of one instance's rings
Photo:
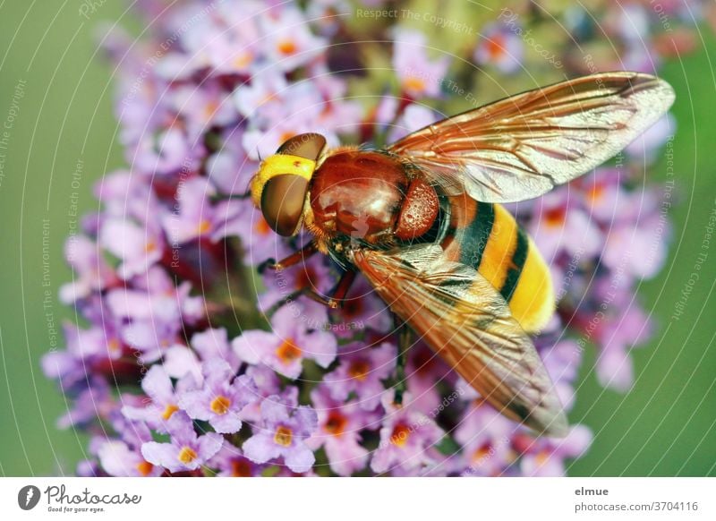
[[[277,154],[317,161],[326,146],[326,138],[317,133],[294,136],[281,145]],[[278,235],[295,235],[303,222],[303,205],[310,180],[301,175],[275,175],[261,192],[261,212],[268,226]]]

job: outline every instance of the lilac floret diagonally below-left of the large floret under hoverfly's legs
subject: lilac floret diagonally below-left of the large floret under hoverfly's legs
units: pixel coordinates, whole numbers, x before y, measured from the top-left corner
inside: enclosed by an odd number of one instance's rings
[[[258,399],[256,385],[246,375],[235,372],[225,361],[214,358],[203,363],[204,386],[188,390],[179,398],[179,406],[194,420],[209,422],[215,431],[231,434],[241,429],[244,406]]]

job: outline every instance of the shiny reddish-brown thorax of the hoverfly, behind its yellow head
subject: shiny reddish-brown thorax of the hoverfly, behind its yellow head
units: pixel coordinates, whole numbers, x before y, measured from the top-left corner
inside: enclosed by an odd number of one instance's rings
[[[430,230],[438,194],[387,154],[348,150],[327,158],[311,180],[313,224],[368,243],[410,240]]]

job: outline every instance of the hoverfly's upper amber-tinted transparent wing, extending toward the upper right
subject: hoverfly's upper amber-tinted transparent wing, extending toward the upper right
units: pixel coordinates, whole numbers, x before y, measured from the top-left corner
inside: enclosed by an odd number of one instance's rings
[[[530,90],[431,124],[388,147],[447,193],[532,199],[607,159],[674,102],[669,83],[601,73]]]

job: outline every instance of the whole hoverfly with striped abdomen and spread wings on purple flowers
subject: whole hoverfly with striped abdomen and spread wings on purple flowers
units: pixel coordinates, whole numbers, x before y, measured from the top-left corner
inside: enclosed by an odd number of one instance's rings
[[[566,415],[528,336],[554,311],[550,270],[499,203],[598,167],[673,100],[654,76],[599,73],[449,117],[384,149],[327,149],[320,134],[294,136],[251,180],[274,231],[312,234],[273,268],[328,254],[345,269],[323,298],[333,307],[361,272],[502,414],[563,436]],[[401,335],[400,354],[409,341]]]

